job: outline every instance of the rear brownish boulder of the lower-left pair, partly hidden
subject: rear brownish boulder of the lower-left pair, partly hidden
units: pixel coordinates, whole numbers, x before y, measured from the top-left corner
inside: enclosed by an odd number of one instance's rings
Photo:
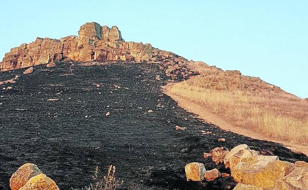
[[[11,190],[19,190],[23,187],[30,178],[41,174],[38,166],[32,163],[26,163],[20,166],[10,178]]]

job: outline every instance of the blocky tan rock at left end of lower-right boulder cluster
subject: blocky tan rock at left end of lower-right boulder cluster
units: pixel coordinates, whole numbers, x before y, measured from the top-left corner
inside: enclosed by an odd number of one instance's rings
[[[185,166],[187,181],[200,182],[204,179],[205,167],[202,163],[192,162]]]

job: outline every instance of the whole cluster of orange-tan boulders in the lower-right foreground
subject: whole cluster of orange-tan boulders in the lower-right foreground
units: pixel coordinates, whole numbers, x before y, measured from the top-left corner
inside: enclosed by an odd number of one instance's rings
[[[247,145],[229,151],[218,147],[206,153],[212,160],[230,168],[238,183],[234,190],[308,190],[308,163],[290,163],[278,156],[260,155]],[[192,162],[185,166],[188,181],[213,181],[222,175],[217,169],[206,171],[203,163]]]

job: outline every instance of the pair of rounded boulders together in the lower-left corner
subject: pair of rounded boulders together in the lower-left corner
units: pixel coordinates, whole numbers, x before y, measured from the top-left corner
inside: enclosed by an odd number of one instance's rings
[[[59,190],[56,183],[43,174],[37,165],[26,163],[10,178],[11,190]]]

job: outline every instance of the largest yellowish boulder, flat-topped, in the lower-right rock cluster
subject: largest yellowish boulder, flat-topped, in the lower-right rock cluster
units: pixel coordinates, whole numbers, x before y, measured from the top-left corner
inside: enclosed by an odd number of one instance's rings
[[[240,160],[231,171],[238,183],[254,185],[262,189],[273,188],[276,181],[289,174],[294,164],[280,161],[277,156],[258,155]]]

